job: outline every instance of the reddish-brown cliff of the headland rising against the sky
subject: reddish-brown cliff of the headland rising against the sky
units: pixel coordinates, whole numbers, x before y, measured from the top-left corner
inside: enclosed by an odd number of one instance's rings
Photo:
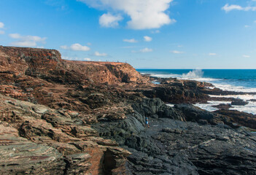
[[[66,61],[57,50],[0,46],[0,71],[26,74],[53,82],[143,82],[128,63]]]

